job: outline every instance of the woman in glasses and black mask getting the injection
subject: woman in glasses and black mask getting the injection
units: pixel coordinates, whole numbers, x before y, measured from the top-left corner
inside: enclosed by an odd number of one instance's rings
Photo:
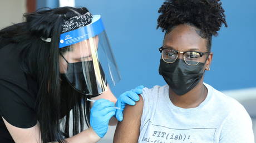
[[[203,82],[212,35],[227,27],[221,2],[168,0],[159,13],[157,27],[166,32],[159,74],[167,85],[144,88],[137,104],[126,107],[114,142],[253,143],[244,107]]]

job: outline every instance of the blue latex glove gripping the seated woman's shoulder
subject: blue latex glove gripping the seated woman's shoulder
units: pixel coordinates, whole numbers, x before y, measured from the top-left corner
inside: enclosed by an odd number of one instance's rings
[[[116,101],[116,106],[118,108],[124,109],[126,104],[135,105],[135,101],[139,101],[139,95],[142,94],[142,89],[144,88],[143,85],[137,86],[137,88],[132,89],[130,91],[126,91],[125,93],[121,94]],[[116,119],[122,121],[122,110],[116,110]]]

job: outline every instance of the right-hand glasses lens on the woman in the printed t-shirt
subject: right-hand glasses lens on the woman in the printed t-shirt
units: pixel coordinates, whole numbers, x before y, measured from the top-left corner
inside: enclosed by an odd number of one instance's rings
[[[200,54],[197,52],[186,52],[184,60],[188,65],[197,65],[200,62]]]

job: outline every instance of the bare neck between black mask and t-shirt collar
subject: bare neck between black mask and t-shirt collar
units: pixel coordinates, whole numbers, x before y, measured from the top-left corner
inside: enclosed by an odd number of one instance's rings
[[[196,108],[205,100],[207,93],[208,91],[203,84],[203,80],[184,95],[177,95],[169,88],[169,98],[171,102],[180,108]]]

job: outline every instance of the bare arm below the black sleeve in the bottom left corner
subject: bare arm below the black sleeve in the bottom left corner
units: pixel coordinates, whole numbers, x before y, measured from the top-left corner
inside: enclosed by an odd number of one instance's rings
[[[15,142],[41,142],[40,127],[38,123],[35,126],[30,127],[28,129],[22,129],[9,124],[9,122],[7,122],[4,118],[3,121]]]

